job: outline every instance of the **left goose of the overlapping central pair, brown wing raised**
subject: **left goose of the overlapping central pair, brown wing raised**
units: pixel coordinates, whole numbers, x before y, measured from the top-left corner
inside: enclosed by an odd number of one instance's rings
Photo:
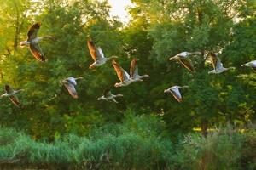
[[[121,82],[116,82],[114,84],[114,87],[118,88],[118,87],[123,87],[123,86],[128,86],[129,84],[131,84],[132,80],[130,75],[115,61],[112,61],[112,65],[114,70],[117,73],[117,76],[119,77],[119,80]]]

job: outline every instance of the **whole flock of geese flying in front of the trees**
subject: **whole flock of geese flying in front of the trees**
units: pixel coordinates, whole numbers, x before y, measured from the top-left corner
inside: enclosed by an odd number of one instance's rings
[[[44,39],[52,39],[51,36],[44,36],[44,37],[38,37],[38,31],[41,26],[40,22],[37,22],[36,24],[32,25],[27,33],[27,39],[24,42],[20,42],[20,47],[26,47],[29,46],[30,51],[32,55],[38,59],[39,61],[45,62],[47,59],[44,56],[44,53],[42,49],[39,46],[39,42],[41,42]],[[131,66],[130,66],[130,75],[127,71],[125,71],[117,62],[115,59],[118,57],[112,56],[109,58],[106,58],[102,52],[102,48],[96,47],[94,42],[91,39],[87,40],[87,45],[90,51],[90,55],[92,59],[94,60],[94,63],[90,65],[90,69],[93,69],[95,67],[104,65],[108,60],[112,60],[112,65],[114,70],[117,73],[117,76],[119,77],[120,82],[116,82],[114,84],[114,87],[125,87],[131,84],[131,82],[141,82],[143,81],[143,77],[149,77],[147,74],[141,76],[138,74],[138,66],[137,66],[137,59],[132,59]],[[201,54],[201,52],[182,52],[180,54],[175,55],[174,57],[171,57],[170,60],[177,61],[181,63],[186,69],[188,69],[191,72],[195,72],[195,67],[190,59],[190,56]],[[221,60],[218,58],[216,54],[210,53],[211,60],[212,60],[212,66],[213,70],[209,71],[209,74],[219,74],[224,71],[228,71],[230,69],[234,69],[234,67],[225,68],[221,62]],[[250,61],[244,65],[241,66],[248,66],[253,68],[253,71],[256,71],[256,60]],[[83,77],[67,77],[64,80],[61,80],[61,84],[64,85],[67,88],[67,91],[71,96],[73,96],[74,99],[78,99],[79,95],[77,94],[75,86],[77,85],[77,80],[83,79]],[[178,102],[182,102],[182,95],[180,94],[179,89],[180,88],[189,88],[188,86],[172,86],[171,88],[165,89],[164,93],[170,93],[173,95],[175,99],[177,99]],[[23,91],[23,89],[14,90],[9,85],[4,86],[5,94],[2,94],[0,97],[9,97],[9,99],[16,105],[20,105],[20,101],[17,97],[17,93],[20,91]],[[118,103],[115,98],[122,97],[122,94],[112,94],[110,89],[106,89],[103,92],[102,97],[99,97],[98,100],[107,100],[107,101],[113,101],[115,103]]]

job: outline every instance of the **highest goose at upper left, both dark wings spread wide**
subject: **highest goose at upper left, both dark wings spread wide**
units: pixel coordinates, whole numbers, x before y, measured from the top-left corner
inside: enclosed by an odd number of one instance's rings
[[[42,49],[39,46],[39,42],[46,38],[52,38],[51,36],[38,37],[38,31],[41,23],[37,22],[32,25],[27,33],[27,39],[24,42],[20,42],[20,47],[29,46],[32,55],[39,61],[45,62],[45,56]]]

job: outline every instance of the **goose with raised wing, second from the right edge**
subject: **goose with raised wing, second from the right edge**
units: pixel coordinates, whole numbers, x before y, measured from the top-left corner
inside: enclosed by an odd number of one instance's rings
[[[235,67],[225,68],[217,55],[211,53],[210,56],[211,56],[211,60],[212,60],[213,70],[208,71],[208,74],[219,74],[224,71],[228,71],[230,69],[235,69]]]

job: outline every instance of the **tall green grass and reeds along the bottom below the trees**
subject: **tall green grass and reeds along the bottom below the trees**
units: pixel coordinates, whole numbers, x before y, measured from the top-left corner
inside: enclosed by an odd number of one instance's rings
[[[255,169],[256,133],[221,129],[189,133],[177,144],[155,116],[126,116],[88,137],[67,134],[53,143],[0,127],[0,168],[47,169]]]

